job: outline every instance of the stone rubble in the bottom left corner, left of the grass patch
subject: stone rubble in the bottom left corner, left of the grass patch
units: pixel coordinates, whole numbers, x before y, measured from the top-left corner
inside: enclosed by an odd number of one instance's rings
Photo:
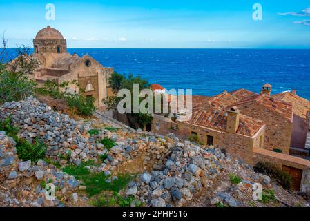
[[[0,132],[0,206],[64,206],[61,201],[77,202],[79,182],[66,173],[39,160],[22,162],[17,157],[16,143]],[[57,198],[46,198],[46,184],[57,186]]]

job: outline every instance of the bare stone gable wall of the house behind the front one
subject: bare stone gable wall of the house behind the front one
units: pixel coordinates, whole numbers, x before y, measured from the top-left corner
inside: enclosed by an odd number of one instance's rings
[[[291,144],[291,133],[293,124],[278,113],[269,111],[269,109],[258,104],[244,104],[238,106],[242,110],[242,114],[260,119],[266,124],[264,137],[264,148],[273,151],[278,148],[282,153],[289,154]]]

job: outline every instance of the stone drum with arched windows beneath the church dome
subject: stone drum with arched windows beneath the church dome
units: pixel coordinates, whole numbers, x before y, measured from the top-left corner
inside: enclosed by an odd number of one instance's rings
[[[39,53],[57,53],[57,46],[61,46],[61,54],[67,52],[66,39],[33,39],[33,45]]]

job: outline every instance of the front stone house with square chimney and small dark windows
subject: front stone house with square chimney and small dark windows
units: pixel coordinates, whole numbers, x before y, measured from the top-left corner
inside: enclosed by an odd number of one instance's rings
[[[238,108],[226,112],[197,110],[191,119],[175,122],[153,115],[152,122],[153,133],[174,133],[185,140],[195,135],[202,144],[219,146],[246,162],[251,161],[254,147],[264,147],[264,130],[264,122],[242,115]]]

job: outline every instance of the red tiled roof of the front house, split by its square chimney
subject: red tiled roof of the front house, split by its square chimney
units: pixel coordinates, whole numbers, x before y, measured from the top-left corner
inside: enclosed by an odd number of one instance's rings
[[[187,122],[206,128],[226,131],[227,114],[224,111],[199,110],[195,111],[191,119]],[[262,126],[264,126],[264,122],[245,115],[240,115],[240,123],[236,133],[253,137]]]

